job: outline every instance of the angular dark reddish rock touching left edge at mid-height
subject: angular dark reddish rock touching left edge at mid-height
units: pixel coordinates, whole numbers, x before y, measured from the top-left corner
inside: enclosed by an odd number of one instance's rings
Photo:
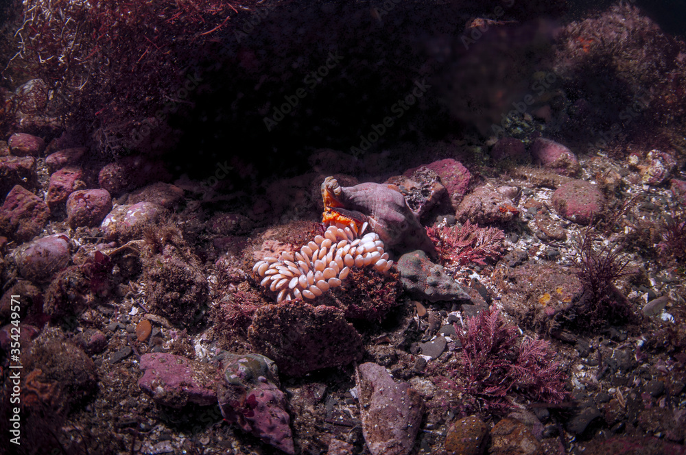
[[[50,210],[43,199],[16,185],[0,208],[0,233],[25,242],[38,235],[49,217]]]

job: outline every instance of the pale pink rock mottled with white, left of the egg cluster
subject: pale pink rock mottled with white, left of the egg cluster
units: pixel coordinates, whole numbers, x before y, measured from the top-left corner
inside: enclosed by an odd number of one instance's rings
[[[152,202],[117,206],[102,220],[100,227],[108,241],[126,242],[141,236],[143,229],[158,221],[165,212],[165,208]]]

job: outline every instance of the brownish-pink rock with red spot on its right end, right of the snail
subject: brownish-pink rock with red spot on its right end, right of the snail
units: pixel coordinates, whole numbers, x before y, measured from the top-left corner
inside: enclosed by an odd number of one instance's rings
[[[456,212],[460,222],[469,220],[478,225],[509,223],[518,215],[519,211],[512,206],[512,200],[490,185],[479,186],[466,195]]]

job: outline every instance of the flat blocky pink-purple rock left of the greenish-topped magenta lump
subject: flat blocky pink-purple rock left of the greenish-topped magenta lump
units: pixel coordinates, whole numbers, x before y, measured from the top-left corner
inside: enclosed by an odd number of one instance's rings
[[[187,403],[209,406],[217,402],[216,371],[209,364],[155,352],[141,356],[141,369],[139,386],[159,404],[182,408]]]

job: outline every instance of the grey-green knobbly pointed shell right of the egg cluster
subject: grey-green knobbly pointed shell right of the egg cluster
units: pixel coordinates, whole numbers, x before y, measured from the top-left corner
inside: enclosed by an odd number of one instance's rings
[[[405,290],[417,299],[429,302],[470,300],[460,284],[434,264],[421,249],[405,253],[398,260],[400,280]]]

